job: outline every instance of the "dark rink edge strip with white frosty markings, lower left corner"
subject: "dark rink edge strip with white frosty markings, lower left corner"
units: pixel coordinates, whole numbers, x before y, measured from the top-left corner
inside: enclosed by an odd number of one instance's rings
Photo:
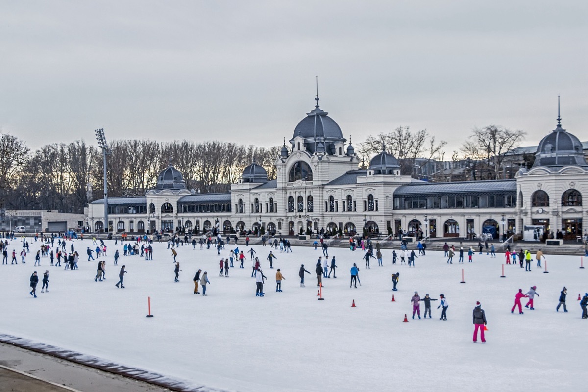
[[[105,359],[89,356],[76,351],[62,349],[61,347],[50,346],[49,344],[24,339],[22,337],[0,334],[0,341],[6,344],[21,347],[22,349],[36,351],[37,353],[47,354],[67,361],[72,361],[84,366],[118,374],[119,376],[133,378],[145,383],[154,384],[163,388],[168,388],[178,392],[228,392],[217,388],[206,386],[193,386],[186,381],[176,380],[174,378],[163,376],[162,374],[152,371],[143,370],[135,367],[123,366]]]

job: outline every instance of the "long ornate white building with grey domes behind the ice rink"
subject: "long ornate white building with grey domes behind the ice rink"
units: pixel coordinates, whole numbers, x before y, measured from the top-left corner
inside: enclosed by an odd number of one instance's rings
[[[207,232],[253,230],[295,235],[324,229],[387,235],[423,230],[430,237],[467,233],[521,233],[524,226],[583,233],[588,209],[588,165],[582,143],[560,125],[543,138],[536,161],[513,180],[428,183],[400,175],[396,158],[376,155],[366,169],[339,125],[316,106],[307,113],[276,158],[277,179],[252,165],[228,193],[195,194],[172,163],[144,197],[112,197],[112,232],[145,233],[184,227]],[[89,225],[103,227],[103,200],[89,206]]]

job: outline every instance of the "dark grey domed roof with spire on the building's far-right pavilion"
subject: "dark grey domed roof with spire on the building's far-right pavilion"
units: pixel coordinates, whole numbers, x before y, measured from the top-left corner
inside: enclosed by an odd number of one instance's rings
[[[557,127],[549,135],[545,136],[537,146],[533,167],[587,166],[582,150],[582,142],[572,133],[566,132],[562,128],[562,118],[559,116],[559,102],[557,112]]]

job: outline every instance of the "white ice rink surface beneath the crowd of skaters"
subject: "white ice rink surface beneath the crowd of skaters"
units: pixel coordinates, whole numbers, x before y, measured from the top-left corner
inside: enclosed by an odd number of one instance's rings
[[[122,246],[107,242],[106,277],[94,282],[96,262],[86,262],[91,240],[76,240],[79,270],[64,271],[42,259],[34,267],[41,243],[31,242],[26,264],[0,270],[0,332],[42,341],[127,366],[233,391],[455,391],[455,390],[586,390],[582,361],[586,327],[577,294],[588,291],[580,257],[550,256],[549,274],[534,267],[524,272],[505,266],[502,254],[491,259],[475,254],[474,262],[447,264],[442,252],[427,252],[416,267],[392,264],[383,250],[384,266],[372,259],[365,269],[363,252],[330,248],[336,256],[338,279],[325,279],[316,297],[316,260],[322,252],[294,247],[276,253],[276,268],[286,280],[275,292],[276,269],[269,269],[270,247],[253,246],[262,260],[266,296],[255,297],[255,279],[245,269],[218,277],[215,249],[178,249],[182,273],[173,282],[174,264],[165,243],[154,243],[152,261],[122,256]],[[66,249],[69,251],[70,243]],[[19,242],[9,251],[19,250]],[[119,249],[119,266],[113,266]],[[243,244],[239,249],[247,250]],[[10,252],[9,252],[10,253]],[[10,256],[9,256],[10,258]],[[353,262],[360,267],[362,286],[349,288]],[[298,270],[304,263],[306,287]],[[126,264],[125,289],[116,289],[119,267]],[[238,263],[235,262],[235,266]],[[201,268],[211,284],[207,297],[193,294],[192,277]],[[462,268],[466,284],[460,284]],[[41,293],[42,272],[50,272],[49,293]],[[39,274],[38,298],[29,295],[29,276]],[[390,275],[400,272],[399,291]],[[517,290],[536,285],[536,310],[510,313]],[[569,313],[556,313],[559,293],[568,288]],[[410,297],[417,290],[449,301],[447,321],[440,321],[439,301],[433,318],[410,319]],[[396,302],[390,301],[395,294]],[[147,313],[151,296],[152,313]],[[352,308],[352,300],[356,307]],[[486,311],[486,344],[472,343],[472,310],[476,301]],[[524,305],[525,302],[523,302]],[[424,304],[421,306],[424,311]],[[404,314],[409,323],[402,323]]]

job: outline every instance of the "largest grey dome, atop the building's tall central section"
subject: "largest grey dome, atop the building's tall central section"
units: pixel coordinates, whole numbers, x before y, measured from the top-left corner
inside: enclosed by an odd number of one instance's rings
[[[315,98],[316,106],[315,109],[306,113],[306,117],[303,118],[292,135],[292,139],[296,137],[304,138],[305,148],[309,153],[317,152],[319,143],[322,143],[323,150],[329,155],[335,153],[335,143],[345,143],[343,138],[343,132],[339,125],[328,116],[328,112],[319,108],[319,98]],[[290,139],[290,142],[292,142]]]

